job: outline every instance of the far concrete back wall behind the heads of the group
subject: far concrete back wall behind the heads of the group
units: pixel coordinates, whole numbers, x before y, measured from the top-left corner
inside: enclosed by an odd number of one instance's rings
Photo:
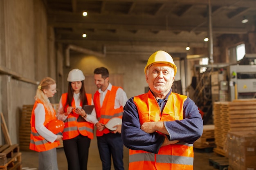
[[[145,79],[144,67],[146,66],[145,57],[149,55],[138,55],[131,57],[130,55],[115,55],[107,54],[106,57],[95,57],[91,55],[76,54],[70,56],[70,67],[64,66],[63,79],[64,79],[64,92],[67,92],[67,75],[73,68],[79,68],[87,76],[93,76],[93,71],[97,67],[104,66],[108,68],[111,75],[121,74],[123,75],[123,88],[126,91],[127,97],[130,98],[135,95],[144,93],[144,88],[148,86]],[[113,77],[113,76],[112,76]],[[93,79],[85,79],[85,81],[91,81],[94,84]],[[112,83],[113,84],[113,83]],[[95,85],[94,85],[95,86]],[[85,87],[86,88],[86,87]],[[87,89],[87,88],[86,88]],[[94,94],[97,90],[96,86],[94,90],[89,90],[87,93]]]

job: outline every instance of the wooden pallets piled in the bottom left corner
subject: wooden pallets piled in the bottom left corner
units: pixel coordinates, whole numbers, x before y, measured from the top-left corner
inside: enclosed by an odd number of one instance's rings
[[[18,144],[0,146],[0,170],[21,170],[21,164]]]

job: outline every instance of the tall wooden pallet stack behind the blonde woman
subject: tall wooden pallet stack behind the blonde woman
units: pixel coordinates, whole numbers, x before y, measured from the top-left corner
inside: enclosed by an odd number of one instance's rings
[[[22,115],[20,122],[20,132],[19,132],[19,141],[20,141],[20,150],[29,150],[30,144],[30,119],[31,112],[34,105],[23,105],[22,106]],[[58,108],[58,104],[54,104],[54,109]],[[58,148],[63,147],[63,141],[61,140],[61,145]]]

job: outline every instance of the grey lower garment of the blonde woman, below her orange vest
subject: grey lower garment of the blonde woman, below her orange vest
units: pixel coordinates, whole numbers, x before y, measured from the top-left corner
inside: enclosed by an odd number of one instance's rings
[[[38,160],[38,170],[58,170],[56,148],[44,152],[39,152]]]

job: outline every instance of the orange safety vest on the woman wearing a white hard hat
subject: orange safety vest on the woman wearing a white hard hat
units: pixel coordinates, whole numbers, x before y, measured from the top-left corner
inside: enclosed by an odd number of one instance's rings
[[[92,94],[85,94],[88,105],[92,105]],[[64,107],[64,112],[67,112],[67,107],[68,105],[65,106],[67,102],[67,93],[62,94],[62,106]],[[72,99],[71,105],[73,108],[76,108],[76,104],[74,101],[74,98]],[[82,102],[80,103],[80,106],[82,106]],[[63,130],[63,140],[66,139],[72,139],[74,137],[77,137],[79,134],[83,136],[87,136],[90,139],[93,139],[93,129],[94,129],[94,124],[83,121],[83,122],[78,122],[77,118],[79,117],[78,114],[76,114],[74,111],[70,113],[67,116],[67,119],[64,121],[64,130]]]

